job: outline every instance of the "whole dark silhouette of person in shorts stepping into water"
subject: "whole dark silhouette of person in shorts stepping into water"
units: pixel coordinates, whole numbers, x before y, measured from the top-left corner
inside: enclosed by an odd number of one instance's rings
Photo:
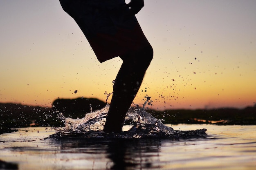
[[[105,132],[121,132],[124,117],[153,58],[135,17],[143,0],[60,0],[83,31],[99,62],[119,56],[123,64],[113,85]]]

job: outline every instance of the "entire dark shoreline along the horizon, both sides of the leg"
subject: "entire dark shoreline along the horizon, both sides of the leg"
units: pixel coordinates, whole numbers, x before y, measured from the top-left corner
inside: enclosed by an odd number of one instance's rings
[[[28,126],[63,126],[58,112],[65,117],[82,118],[106,103],[94,98],[56,99],[52,108],[0,103],[0,133]],[[256,106],[244,109],[147,110],[165,124],[256,125]],[[8,130],[8,131],[7,131]]]

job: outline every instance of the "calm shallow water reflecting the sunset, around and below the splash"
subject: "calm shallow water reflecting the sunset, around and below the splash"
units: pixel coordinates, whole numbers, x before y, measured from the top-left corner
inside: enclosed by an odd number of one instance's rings
[[[20,170],[254,170],[256,126],[167,125],[207,128],[186,139],[44,139],[51,128],[20,128],[0,135],[0,160]]]

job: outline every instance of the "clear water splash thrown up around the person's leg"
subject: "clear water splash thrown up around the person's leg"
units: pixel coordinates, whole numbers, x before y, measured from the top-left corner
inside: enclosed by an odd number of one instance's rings
[[[144,103],[144,107],[147,101]],[[190,130],[190,131],[177,131],[173,128],[166,126],[147,113],[143,108],[131,107],[126,113],[125,124],[132,125],[128,131],[121,133],[105,133],[103,128],[106,122],[106,117],[109,109],[107,104],[101,110],[96,110],[87,113],[82,119],[65,118],[65,127],[58,128],[56,134],[51,137],[85,137],[85,138],[146,138],[146,137],[161,137],[161,138],[179,138],[179,137],[200,137],[206,135],[207,129]]]

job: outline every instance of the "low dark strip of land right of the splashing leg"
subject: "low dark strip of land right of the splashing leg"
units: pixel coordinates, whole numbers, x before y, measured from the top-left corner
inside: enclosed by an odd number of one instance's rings
[[[198,110],[148,110],[165,124],[256,125],[256,107]]]

